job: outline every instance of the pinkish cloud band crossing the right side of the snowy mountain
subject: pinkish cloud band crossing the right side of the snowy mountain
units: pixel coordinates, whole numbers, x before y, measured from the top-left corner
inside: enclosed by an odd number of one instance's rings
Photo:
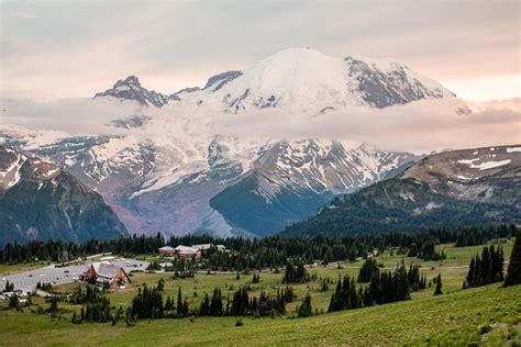
[[[429,153],[521,143],[521,113],[500,102],[480,104],[470,114],[457,112],[459,100],[424,100],[379,109],[350,108],[314,117],[289,117],[280,111],[226,115],[220,131],[236,136],[334,138],[369,143],[383,149]]]

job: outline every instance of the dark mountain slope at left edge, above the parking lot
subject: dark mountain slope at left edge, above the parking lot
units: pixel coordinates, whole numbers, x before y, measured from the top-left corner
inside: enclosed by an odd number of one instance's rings
[[[0,245],[128,235],[103,199],[70,174],[0,146]]]

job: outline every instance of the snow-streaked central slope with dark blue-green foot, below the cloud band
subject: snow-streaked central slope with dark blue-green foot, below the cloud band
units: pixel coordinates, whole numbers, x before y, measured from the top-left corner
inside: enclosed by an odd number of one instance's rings
[[[346,150],[334,141],[280,142],[210,205],[233,226],[269,235],[312,215],[336,194],[374,183],[415,159],[366,145]]]

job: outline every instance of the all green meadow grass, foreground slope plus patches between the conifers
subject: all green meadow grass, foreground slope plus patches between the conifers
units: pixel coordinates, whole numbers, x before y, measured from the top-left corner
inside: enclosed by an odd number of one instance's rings
[[[512,242],[503,245],[506,258],[510,255]],[[309,292],[313,310],[328,307],[335,284],[326,292],[320,291],[320,281],[293,284],[298,295],[296,302],[287,305],[288,315],[277,318],[243,317],[244,326],[235,326],[235,317],[200,317],[195,320],[141,321],[133,327],[123,322],[110,324],[73,325],[74,311],[80,306],[59,303],[60,317],[52,320],[48,315],[24,312],[0,311],[0,345],[465,345],[467,342],[503,345],[520,340],[521,287],[508,289],[492,284],[462,291],[462,282],[469,259],[483,246],[455,248],[440,245],[447,259],[444,261],[421,261],[403,258],[421,265],[421,270],[431,279],[442,273],[444,295],[432,296],[434,288],[414,292],[412,300],[366,307],[354,311],[321,314],[310,318],[289,318]],[[386,253],[378,257],[385,267],[391,268],[403,256]],[[362,261],[328,267],[309,268],[320,278],[336,280],[337,276],[357,276]],[[126,307],[143,283],[155,286],[160,278],[166,280],[166,295],[177,299],[177,290],[188,299],[191,307],[197,307],[204,292],[211,293],[214,287],[222,289],[223,295],[232,293],[242,284],[252,287],[253,293],[260,290],[274,291],[281,287],[281,273],[263,271],[260,283],[251,283],[253,275],[235,273],[202,275],[192,279],[171,279],[169,273],[132,273],[132,286],[125,290],[110,293],[111,304]],[[77,283],[56,287],[62,293],[70,292]],[[197,296],[195,293],[197,292]],[[46,307],[42,298],[34,304]],[[0,309],[4,304],[0,304]],[[34,307],[33,307],[34,309]]]

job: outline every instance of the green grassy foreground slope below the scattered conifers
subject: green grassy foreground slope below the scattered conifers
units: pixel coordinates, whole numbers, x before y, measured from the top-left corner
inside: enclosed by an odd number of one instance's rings
[[[498,284],[310,318],[234,317],[73,325],[68,320],[4,311],[4,345],[458,345],[520,342],[521,287]],[[483,326],[491,331],[483,334]],[[486,329],[485,329],[486,331]],[[465,345],[465,344],[463,344]]]

